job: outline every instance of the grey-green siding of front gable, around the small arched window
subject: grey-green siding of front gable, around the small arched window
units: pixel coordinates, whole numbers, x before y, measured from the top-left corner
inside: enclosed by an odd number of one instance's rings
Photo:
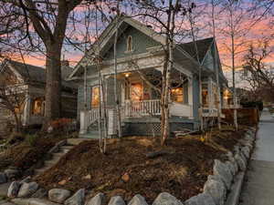
[[[128,36],[132,36],[132,52],[127,52],[127,39]],[[136,28],[129,26],[117,41],[117,57],[131,56],[132,54],[146,53],[146,48],[160,46],[160,44],[153,40],[152,37],[146,36]],[[113,46],[110,51],[103,57],[106,60],[113,59]]]

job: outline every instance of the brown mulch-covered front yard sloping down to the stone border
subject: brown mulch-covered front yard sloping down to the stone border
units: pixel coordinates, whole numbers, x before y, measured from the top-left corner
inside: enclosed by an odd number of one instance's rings
[[[224,159],[232,150],[244,128],[213,130],[211,141],[198,135],[170,138],[161,147],[158,138],[110,139],[107,154],[100,154],[98,141],[84,141],[71,149],[58,164],[37,177],[46,189],[90,190],[90,196],[104,192],[108,197],[121,195],[130,200],[142,194],[151,203],[167,191],[180,200],[202,192],[205,180],[212,174],[213,159]],[[148,153],[163,151],[155,158]]]

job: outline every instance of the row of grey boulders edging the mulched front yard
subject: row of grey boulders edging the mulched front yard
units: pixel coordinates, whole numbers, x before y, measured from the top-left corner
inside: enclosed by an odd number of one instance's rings
[[[225,205],[229,197],[227,195],[230,190],[237,187],[240,191],[241,185],[238,184],[238,176],[243,176],[248,166],[248,159],[253,149],[256,136],[256,129],[249,128],[245,138],[241,139],[232,152],[226,154],[227,160],[222,162],[218,159],[214,160],[213,175],[209,175],[204,185],[202,193],[185,200],[177,200],[174,196],[167,192],[162,192],[153,201],[152,205]],[[241,177],[243,179],[243,177]],[[236,183],[234,183],[236,181]],[[233,184],[234,183],[234,184]],[[241,184],[241,183],[240,183]],[[28,177],[22,181],[14,181],[11,183],[7,197],[12,202],[20,205],[104,205],[105,197],[103,193],[97,194],[95,197],[85,200],[85,190],[78,190],[73,195],[69,190],[39,189],[37,182],[31,182]],[[47,198],[47,200],[41,199]],[[238,199],[238,198],[237,198]],[[236,200],[234,200],[236,201]],[[125,205],[125,201],[121,196],[114,196],[108,205]],[[145,199],[137,194],[128,205],[148,205]],[[230,204],[229,204],[230,205]]]

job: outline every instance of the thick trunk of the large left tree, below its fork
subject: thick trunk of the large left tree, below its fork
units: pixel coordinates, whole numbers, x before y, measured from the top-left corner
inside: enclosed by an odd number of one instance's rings
[[[61,46],[47,46],[46,58],[46,123],[61,116]]]

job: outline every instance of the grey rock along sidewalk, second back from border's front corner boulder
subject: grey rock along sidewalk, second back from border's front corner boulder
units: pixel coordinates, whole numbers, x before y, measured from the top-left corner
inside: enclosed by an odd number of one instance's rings
[[[215,159],[213,173],[214,175],[220,176],[220,178],[224,181],[227,190],[229,190],[233,176],[230,173],[230,170],[227,168],[227,165],[225,163],[222,163],[220,160]]]

